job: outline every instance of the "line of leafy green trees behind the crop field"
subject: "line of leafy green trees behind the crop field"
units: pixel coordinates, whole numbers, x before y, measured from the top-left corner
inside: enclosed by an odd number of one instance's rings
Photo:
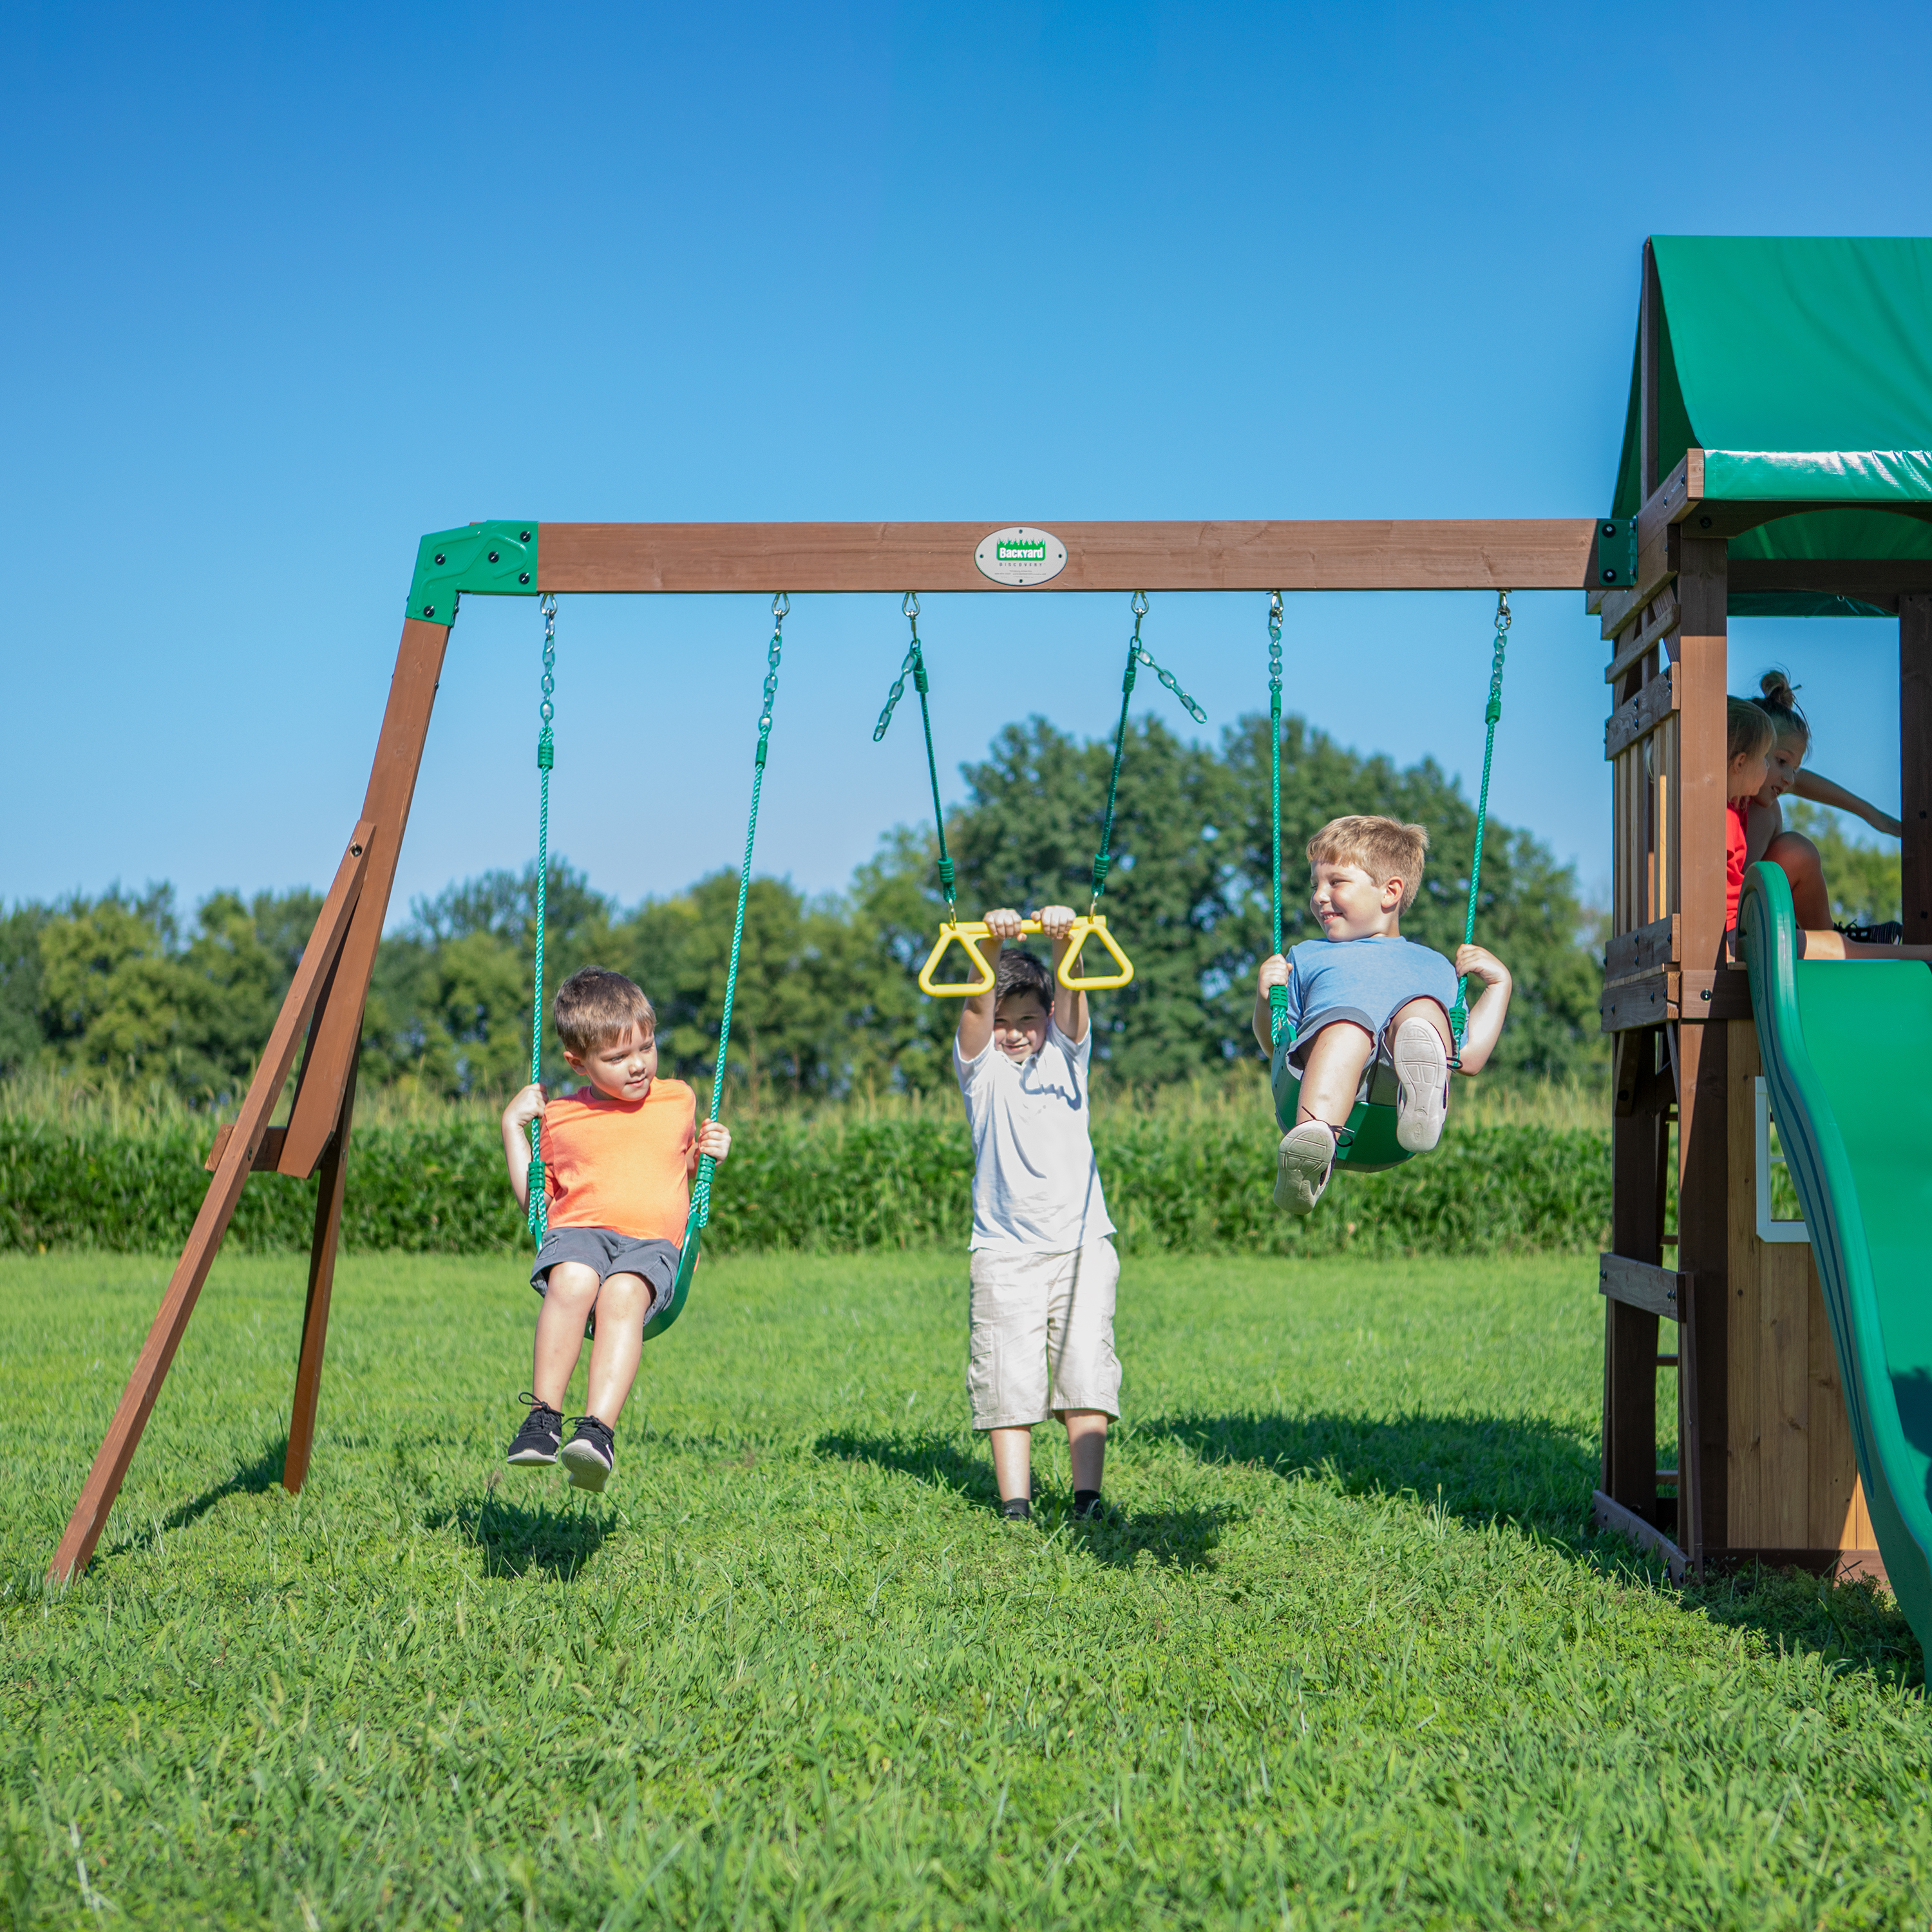
[[[1271,945],[1267,719],[1246,717],[1208,746],[1148,717],[1130,740],[1103,910],[1136,978],[1095,1001],[1095,1051],[1119,1082],[1157,1086],[1256,1055],[1254,966]],[[1049,900],[1086,908],[1111,750],[1034,717],[962,767],[966,792],[947,817],[962,916]],[[1455,951],[1476,813],[1432,759],[1362,757],[1291,717],[1281,810],[1289,945],[1320,931],[1304,898],[1310,835],[1341,811],[1383,811],[1430,831],[1405,933]],[[920,1094],[951,1080],[956,1009],[914,983],[943,916],[935,856],[929,825],[900,825],[842,893],[813,898],[784,879],[753,879],[728,1074],[742,1103]],[[365,1082],[462,1097],[527,1078],[535,883],[533,866],[483,873],[417,900],[384,937],[363,1022]],[[549,985],[583,964],[628,972],[657,1005],[667,1068],[707,1076],[736,889],[736,873],[717,871],[622,908],[558,860],[547,881]],[[220,891],[187,918],[164,885],[15,904],[0,918],[0,1078],[39,1066],[160,1082],[189,1105],[230,1101],[319,906],[311,891]],[[1478,939],[1517,976],[1497,1061],[1505,1076],[1600,1065],[1602,968],[1586,923],[1571,867],[1532,833],[1492,819]]]

